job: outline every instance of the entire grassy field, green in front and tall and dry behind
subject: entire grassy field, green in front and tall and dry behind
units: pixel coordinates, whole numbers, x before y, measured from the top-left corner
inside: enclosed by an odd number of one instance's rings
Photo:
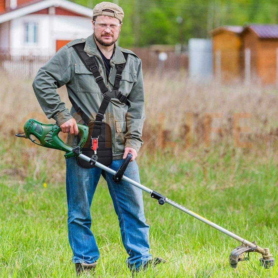
[[[32,91],[32,80],[0,73],[0,277],[75,277],[67,236],[65,159],[57,150],[15,138],[29,118],[48,121]],[[271,88],[196,84],[182,75],[145,74],[146,121],[140,150],[141,182],[192,211],[269,247],[277,256],[277,91]],[[65,88],[58,90],[70,107]],[[208,119],[205,113],[222,113]],[[251,113],[233,146],[234,113]],[[158,114],[160,113],[160,114]],[[204,132],[212,126],[204,146]],[[244,135],[245,134],[245,135]],[[65,139],[65,136],[63,137]],[[175,147],[162,149],[165,141]],[[168,263],[137,277],[277,277],[251,261],[230,268],[239,242],[143,194],[150,225],[150,252]],[[96,277],[130,277],[127,254],[112,200],[101,178],[93,204],[92,230],[100,247]]]

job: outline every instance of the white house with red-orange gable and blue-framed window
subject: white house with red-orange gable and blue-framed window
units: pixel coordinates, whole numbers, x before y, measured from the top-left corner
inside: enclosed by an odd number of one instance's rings
[[[67,0],[0,0],[0,53],[52,56],[89,36],[91,18],[92,9]]]

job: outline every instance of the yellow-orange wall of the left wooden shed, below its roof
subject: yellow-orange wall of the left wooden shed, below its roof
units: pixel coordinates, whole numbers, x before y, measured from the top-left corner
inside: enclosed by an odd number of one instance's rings
[[[241,39],[234,32],[224,31],[213,36],[213,66],[216,70],[216,51],[221,51],[221,77],[233,81],[240,74]]]

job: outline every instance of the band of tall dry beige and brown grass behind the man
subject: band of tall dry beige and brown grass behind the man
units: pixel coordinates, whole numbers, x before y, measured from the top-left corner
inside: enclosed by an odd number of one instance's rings
[[[163,76],[145,73],[144,83],[146,120],[141,155],[146,151],[180,155],[185,150],[194,153],[213,150],[215,146],[220,146],[223,151],[224,147],[229,147],[260,156],[276,151],[278,93],[275,89],[193,82],[184,78],[182,73]],[[70,108],[65,86],[57,91],[66,107]],[[27,140],[24,141],[26,148],[20,147],[23,140],[14,136],[23,130],[23,124],[29,118],[54,123],[42,112],[32,90],[32,80],[13,79],[1,74],[0,94],[0,138],[6,150],[1,163],[13,164],[14,170],[9,171],[22,177],[26,177],[26,165],[22,161],[32,161],[37,165],[32,170],[35,176],[41,171],[40,161],[49,156],[55,158],[49,163],[55,163],[59,168],[61,152],[49,150],[46,153]],[[237,124],[237,115],[247,118],[239,119]],[[244,126],[251,131],[240,133]],[[221,129],[210,132],[211,127]],[[237,134],[239,142],[235,141]],[[249,148],[242,148],[240,144],[244,141],[251,143]]]

